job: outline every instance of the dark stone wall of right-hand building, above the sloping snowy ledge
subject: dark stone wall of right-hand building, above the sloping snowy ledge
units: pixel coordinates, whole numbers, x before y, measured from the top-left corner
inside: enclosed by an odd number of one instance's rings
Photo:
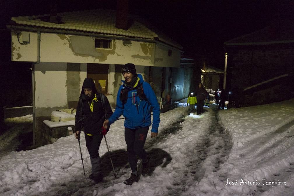
[[[243,90],[276,76],[294,72],[294,48],[246,48],[230,53],[232,89]],[[231,64],[230,64],[231,63]]]

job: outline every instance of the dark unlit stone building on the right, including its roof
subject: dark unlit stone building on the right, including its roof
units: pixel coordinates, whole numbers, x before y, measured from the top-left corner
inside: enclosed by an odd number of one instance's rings
[[[259,105],[294,96],[294,22],[272,25],[224,43],[231,66],[232,107]]]

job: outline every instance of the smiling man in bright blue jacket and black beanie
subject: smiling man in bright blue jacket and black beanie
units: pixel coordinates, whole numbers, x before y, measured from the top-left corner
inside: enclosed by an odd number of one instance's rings
[[[122,73],[125,80],[122,81],[123,85],[117,93],[115,112],[104,121],[103,127],[107,129],[122,114],[125,117],[125,140],[132,173],[123,183],[132,185],[139,180],[136,155],[142,159],[142,175],[147,175],[149,172],[149,159],[143,147],[151,125],[151,108],[153,110],[151,137],[157,136],[160,108],[150,84],[144,82],[141,74],[136,73],[134,64],[123,65]]]

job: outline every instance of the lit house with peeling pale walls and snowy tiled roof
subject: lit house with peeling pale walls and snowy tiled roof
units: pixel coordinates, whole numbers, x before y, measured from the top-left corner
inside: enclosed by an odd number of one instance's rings
[[[181,67],[183,47],[118,8],[11,18],[12,61],[33,65],[34,121],[75,107],[84,78],[114,106],[125,63],[136,65],[156,96],[186,97],[193,71]]]

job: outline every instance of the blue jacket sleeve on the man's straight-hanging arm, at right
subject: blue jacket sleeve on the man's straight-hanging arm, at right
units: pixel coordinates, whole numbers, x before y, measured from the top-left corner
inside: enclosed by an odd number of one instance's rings
[[[151,108],[153,108],[153,121],[152,121],[152,129],[151,132],[153,133],[158,133],[158,127],[159,127],[159,123],[160,123],[160,118],[159,118],[159,114],[160,114],[160,108],[159,108],[159,104],[157,102],[157,98],[156,95],[154,93],[154,91],[152,90],[151,86],[149,83],[144,82],[144,93],[146,93],[146,97],[148,99],[148,102],[151,105]]]

